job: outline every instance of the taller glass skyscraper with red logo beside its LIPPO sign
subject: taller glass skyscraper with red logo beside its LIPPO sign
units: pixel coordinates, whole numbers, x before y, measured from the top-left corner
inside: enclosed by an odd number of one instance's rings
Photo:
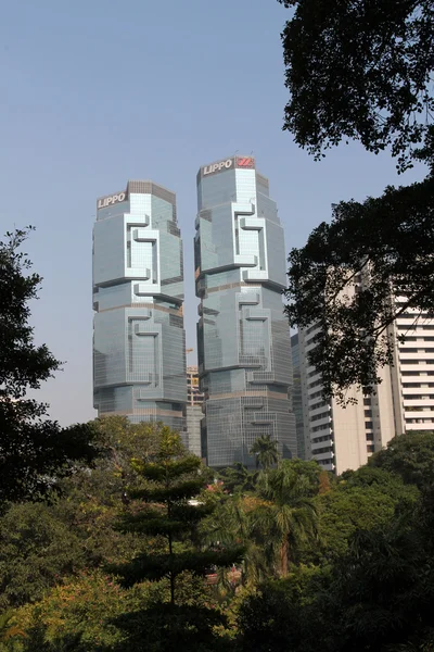
[[[253,466],[250,450],[263,435],[283,457],[296,454],[283,228],[255,167],[252,156],[232,156],[197,174],[197,350],[210,466]]]

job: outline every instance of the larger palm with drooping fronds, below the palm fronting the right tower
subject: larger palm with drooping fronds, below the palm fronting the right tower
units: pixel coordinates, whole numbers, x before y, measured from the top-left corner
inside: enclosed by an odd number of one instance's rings
[[[303,473],[304,464],[299,460],[283,460],[259,481],[259,496],[266,502],[256,510],[254,529],[261,532],[282,577],[288,575],[289,564],[299,544],[318,536],[312,485]]]

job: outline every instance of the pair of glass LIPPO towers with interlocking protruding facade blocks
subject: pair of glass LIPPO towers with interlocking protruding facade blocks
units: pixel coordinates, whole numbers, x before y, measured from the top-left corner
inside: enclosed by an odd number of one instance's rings
[[[255,464],[270,435],[296,454],[285,247],[252,156],[197,173],[194,238],[202,455]],[[93,230],[93,392],[99,416],[163,422],[188,439],[183,258],[176,198],[152,181],[98,200]]]

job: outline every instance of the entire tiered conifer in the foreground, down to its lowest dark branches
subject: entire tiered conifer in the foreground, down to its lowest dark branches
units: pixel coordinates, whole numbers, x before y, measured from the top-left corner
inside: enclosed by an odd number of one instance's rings
[[[206,550],[201,546],[197,528],[212,506],[201,498],[204,484],[201,461],[187,453],[178,434],[161,426],[157,452],[148,460],[135,459],[132,465],[141,482],[128,493],[141,504],[125,513],[120,528],[157,537],[159,550],[145,551],[128,564],[114,566],[113,570],[120,575],[126,587],[144,579],[165,579],[169,599],[116,620],[127,632],[129,648],[126,649],[151,652],[171,648],[191,650],[199,645],[204,652],[212,650],[213,626],[222,622],[221,615],[194,601],[192,604],[180,602],[177,599],[179,579],[186,572],[204,577],[210,567],[228,567],[240,562],[242,549]]]

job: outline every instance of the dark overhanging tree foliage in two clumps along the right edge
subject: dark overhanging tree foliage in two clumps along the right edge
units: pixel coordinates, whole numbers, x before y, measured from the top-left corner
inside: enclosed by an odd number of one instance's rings
[[[284,128],[295,141],[319,159],[357,139],[371,152],[392,148],[401,172],[416,160],[431,166],[421,183],[340,202],[332,223],[290,254],[290,324],[322,327],[309,359],[324,396],[345,402],[352,385],[372,393],[393,361],[405,340],[396,316],[413,310],[416,324],[434,312],[433,3],[279,1],[295,7],[282,34]]]

